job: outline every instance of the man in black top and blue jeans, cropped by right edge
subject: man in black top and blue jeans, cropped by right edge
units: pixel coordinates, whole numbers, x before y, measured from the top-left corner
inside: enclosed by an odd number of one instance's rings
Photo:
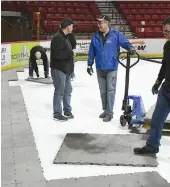
[[[170,16],[163,21],[163,32],[168,41],[164,45],[162,66],[158,78],[152,87],[152,93],[158,93],[158,98],[152,115],[150,135],[144,147],[134,149],[136,154],[156,154],[159,152],[163,125],[170,113]]]

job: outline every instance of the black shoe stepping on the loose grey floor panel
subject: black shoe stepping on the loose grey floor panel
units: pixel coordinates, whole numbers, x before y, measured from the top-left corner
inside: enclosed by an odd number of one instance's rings
[[[135,154],[140,154],[140,155],[144,155],[144,154],[156,154],[159,152],[159,148],[155,149],[151,146],[145,145],[144,147],[141,148],[134,148],[134,153]]]

